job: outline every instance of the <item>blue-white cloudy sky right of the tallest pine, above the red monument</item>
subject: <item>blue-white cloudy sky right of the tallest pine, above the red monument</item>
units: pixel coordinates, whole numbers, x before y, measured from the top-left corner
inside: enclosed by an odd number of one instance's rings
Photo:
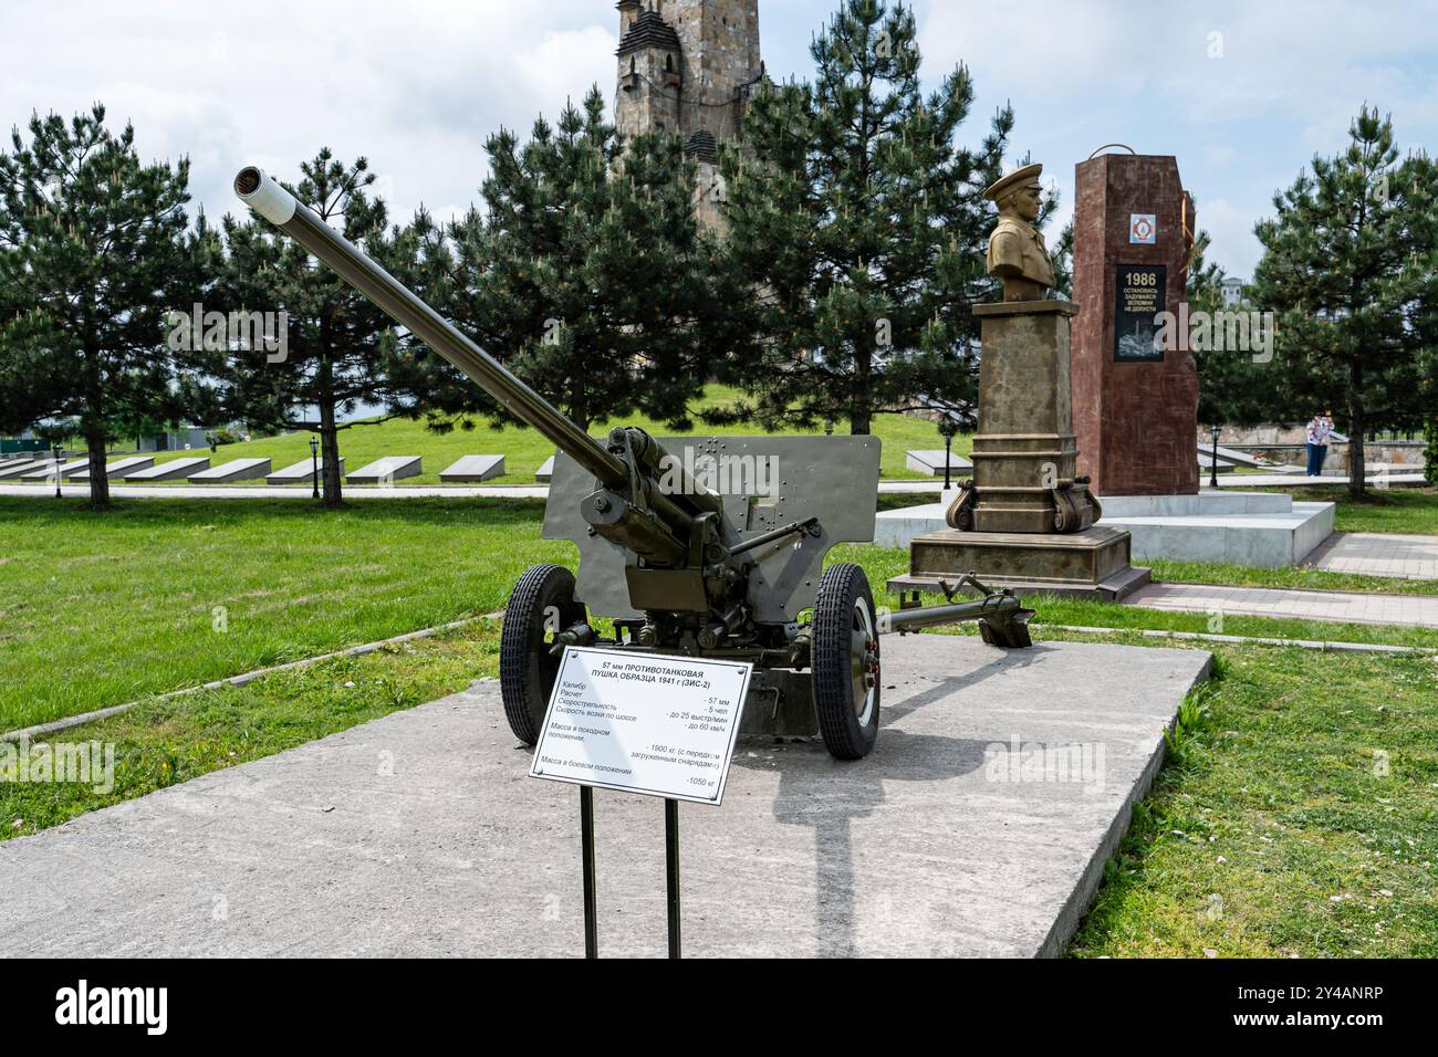
[[[1022,14],[920,7],[928,75],[966,62],[984,118],[1012,99],[1014,155],[1044,161],[1067,200],[1073,165],[1100,144],[1175,155],[1208,201],[1199,224],[1215,259],[1240,275],[1260,256],[1252,226],[1274,191],[1343,150],[1362,104],[1392,112],[1401,148],[1438,141],[1438,0],[1074,0]]]

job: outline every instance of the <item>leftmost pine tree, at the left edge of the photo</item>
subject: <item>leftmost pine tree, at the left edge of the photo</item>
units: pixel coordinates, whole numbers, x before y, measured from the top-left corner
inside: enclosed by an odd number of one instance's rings
[[[211,406],[206,364],[165,339],[209,236],[187,233],[188,161],[142,164],[134,128],[112,134],[99,104],[27,129],[0,152],[0,429],[73,421],[104,509],[109,440]]]

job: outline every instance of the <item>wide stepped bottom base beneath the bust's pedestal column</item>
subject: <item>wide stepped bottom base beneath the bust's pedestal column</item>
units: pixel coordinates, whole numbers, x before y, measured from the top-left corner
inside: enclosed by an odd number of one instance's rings
[[[890,591],[938,591],[976,572],[989,587],[1119,601],[1149,582],[1149,569],[1129,564],[1127,531],[1097,525],[1081,532],[958,532],[915,536],[909,574]]]

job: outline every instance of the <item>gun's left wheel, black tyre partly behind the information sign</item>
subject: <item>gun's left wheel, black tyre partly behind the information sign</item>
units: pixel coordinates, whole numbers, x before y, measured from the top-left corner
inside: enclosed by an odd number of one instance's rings
[[[549,693],[559,674],[554,637],[585,618],[574,598],[574,574],[562,565],[531,565],[515,584],[499,633],[499,696],[509,729],[525,745],[539,741]]]

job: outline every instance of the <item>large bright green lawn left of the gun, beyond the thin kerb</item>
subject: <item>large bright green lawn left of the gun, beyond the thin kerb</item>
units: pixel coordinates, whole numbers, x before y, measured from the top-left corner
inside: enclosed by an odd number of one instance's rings
[[[0,498],[0,729],[375,641],[505,604],[538,500]]]

